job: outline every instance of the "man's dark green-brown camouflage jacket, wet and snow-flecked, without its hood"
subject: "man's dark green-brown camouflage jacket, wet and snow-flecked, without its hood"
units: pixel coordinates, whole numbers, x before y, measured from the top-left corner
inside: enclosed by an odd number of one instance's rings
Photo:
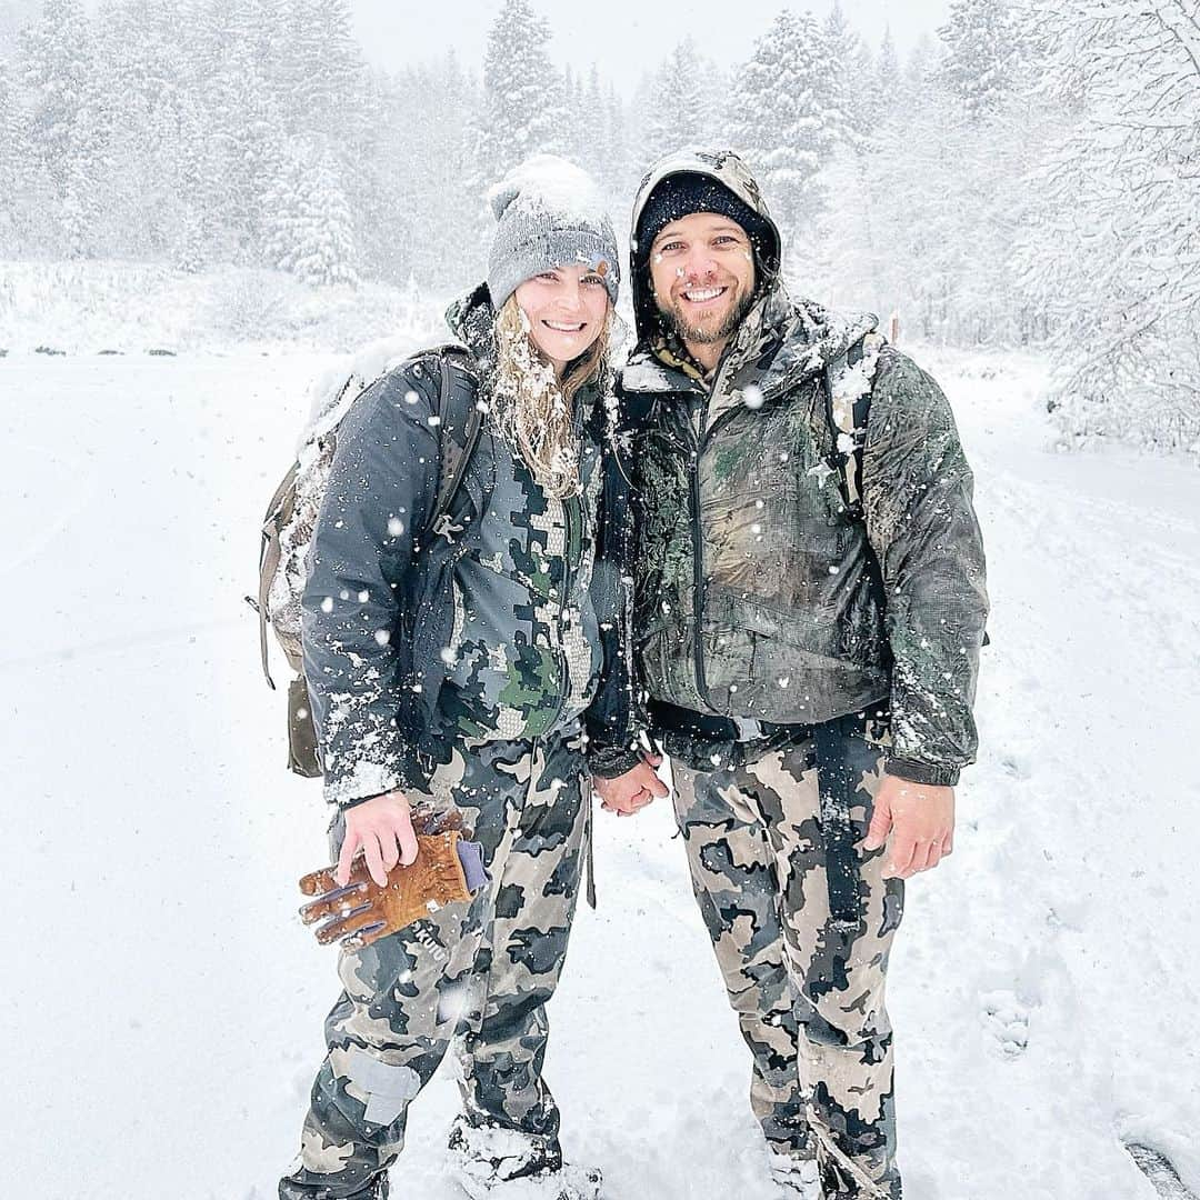
[[[847,504],[827,368],[874,328],[775,284],[708,386],[665,347],[635,352],[618,396],[637,660],[653,698],[738,720],[889,701],[889,772],[953,784],[976,751],[988,611],[972,476],[937,384],[884,344],[874,377],[833,380],[872,388],[862,503]]]

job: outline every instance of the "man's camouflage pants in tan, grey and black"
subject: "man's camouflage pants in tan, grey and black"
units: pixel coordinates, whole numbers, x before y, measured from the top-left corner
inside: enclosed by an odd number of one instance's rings
[[[822,786],[853,780],[844,800],[854,841],[870,822],[886,737],[880,722],[845,718],[835,739],[841,769],[822,767]],[[817,1159],[830,1200],[895,1200],[883,989],[904,884],[882,878],[883,851],[856,852],[859,919],[838,928],[814,739],[751,744],[745,758],[712,772],[673,769],[696,900],[754,1056],[751,1106],[773,1150]]]

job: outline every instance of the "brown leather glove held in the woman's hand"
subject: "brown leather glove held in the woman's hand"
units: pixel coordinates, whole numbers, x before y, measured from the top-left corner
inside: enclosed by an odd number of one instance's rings
[[[332,917],[316,930],[317,941],[328,946],[341,940],[347,949],[356,950],[428,917],[444,904],[470,900],[472,890],[458,857],[462,836],[456,828],[419,833],[416,858],[409,866],[394,866],[384,887],[371,878],[361,854],[350,866],[346,887],[334,878],[336,868],[310,871],[300,881],[300,890],[317,899],[300,910],[300,919],[311,925]]]

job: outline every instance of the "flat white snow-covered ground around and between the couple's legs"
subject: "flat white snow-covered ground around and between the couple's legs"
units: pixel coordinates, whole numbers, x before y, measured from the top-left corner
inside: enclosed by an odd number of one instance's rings
[[[995,616],[958,850],[910,886],[892,976],[906,1194],[1152,1200],[1123,1140],[1200,1194],[1200,473],[1052,452],[1034,361],[923,360],[977,467]],[[294,881],[326,815],[283,770],[241,598],[328,362],[0,360],[17,1200],[265,1200],[296,1148],[336,980]],[[600,820],[596,862],[551,1008],[566,1150],[611,1200],[766,1200],[667,806]],[[454,1110],[437,1080],[395,1194],[456,1195]]]

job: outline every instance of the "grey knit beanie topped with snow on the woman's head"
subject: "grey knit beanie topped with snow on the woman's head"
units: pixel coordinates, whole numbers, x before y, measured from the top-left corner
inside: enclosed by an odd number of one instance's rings
[[[487,290],[498,312],[526,280],[556,266],[587,264],[617,304],[617,239],[592,176],[564,158],[527,158],[488,192],[496,236]]]

